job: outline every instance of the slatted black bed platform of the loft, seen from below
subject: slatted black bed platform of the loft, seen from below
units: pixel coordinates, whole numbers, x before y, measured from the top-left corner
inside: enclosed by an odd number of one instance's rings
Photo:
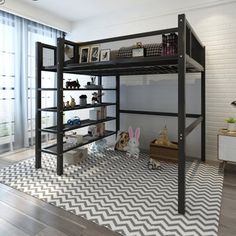
[[[50,67],[52,69],[52,67]],[[203,66],[186,55],[186,71],[203,71]],[[68,64],[65,73],[96,76],[168,74],[178,72],[178,55],[121,58],[106,62]]]

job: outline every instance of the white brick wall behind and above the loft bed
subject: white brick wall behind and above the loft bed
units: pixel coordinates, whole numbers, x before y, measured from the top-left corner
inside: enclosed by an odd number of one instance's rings
[[[145,1],[146,2],[146,1]],[[222,4],[222,2],[224,4]],[[150,4],[148,4],[150,3]],[[207,158],[216,159],[217,131],[225,127],[225,118],[236,116],[229,104],[236,95],[236,3],[235,1],[147,1],[100,18],[74,24],[70,38],[85,41],[118,35],[176,27],[177,14],[185,13],[199,38],[206,46],[207,90]],[[151,85],[151,86],[150,86]],[[122,108],[140,108],[158,111],[177,111],[177,76],[122,77]],[[199,75],[187,81],[187,111],[200,111]],[[145,105],[146,104],[146,105]],[[150,105],[150,106],[149,106]],[[141,126],[141,143],[148,147],[158,135],[165,121],[172,140],[177,139],[177,120],[168,117],[121,115],[121,126]],[[187,123],[193,121],[187,119]],[[200,156],[200,129],[188,136],[187,153]]]

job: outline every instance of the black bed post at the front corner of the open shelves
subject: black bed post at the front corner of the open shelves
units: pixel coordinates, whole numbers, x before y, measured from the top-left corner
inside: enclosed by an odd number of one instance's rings
[[[63,66],[64,38],[57,39],[57,174],[63,174]]]

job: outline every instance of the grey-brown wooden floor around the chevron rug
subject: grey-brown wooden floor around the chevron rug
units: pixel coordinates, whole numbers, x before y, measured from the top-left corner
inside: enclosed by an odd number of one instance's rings
[[[24,150],[0,156],[0,168],[34,155]],[[115,236],[93,222],[0,184],[0,236]],[[220,214],[219,236],[236,235],[236,165],[228,164]]]

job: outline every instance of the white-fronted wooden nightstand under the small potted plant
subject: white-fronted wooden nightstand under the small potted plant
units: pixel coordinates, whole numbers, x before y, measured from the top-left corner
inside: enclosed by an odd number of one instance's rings
[[[217,139],[218,159],[223,161],[223,167],[227,161],[236,162],[236,132],[220,130]]]

